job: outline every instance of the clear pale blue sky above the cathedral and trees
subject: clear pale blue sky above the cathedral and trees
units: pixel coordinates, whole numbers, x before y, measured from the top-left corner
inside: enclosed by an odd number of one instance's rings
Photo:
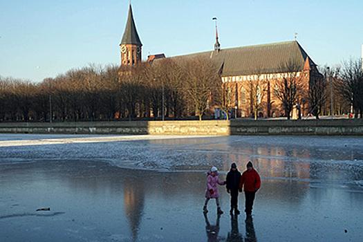
[[[129,0],[3,0],[0,76],[31,82],[120,64]],[[297,41],[319,66],[362,57],[362,0],[132,0],[142,59]]]

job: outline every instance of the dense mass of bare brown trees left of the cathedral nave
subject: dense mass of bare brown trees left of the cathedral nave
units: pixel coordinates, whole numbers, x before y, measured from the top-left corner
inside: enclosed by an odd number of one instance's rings
[[[221,88],[205,59],[165,59],[138,66],[73,69],[39,84],[0,77],[0,120],[156,119],[209,114],[210,93]],[[164,101],[164,102],[163,102]]]

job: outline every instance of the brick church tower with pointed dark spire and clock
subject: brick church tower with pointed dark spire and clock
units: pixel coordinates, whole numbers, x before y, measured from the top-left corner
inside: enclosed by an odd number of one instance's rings
[[[131,3],[129,6],[129,17],[124,28],[121,40],[121,65],[135,65],[141,62],[141,41],[133,21]]]

